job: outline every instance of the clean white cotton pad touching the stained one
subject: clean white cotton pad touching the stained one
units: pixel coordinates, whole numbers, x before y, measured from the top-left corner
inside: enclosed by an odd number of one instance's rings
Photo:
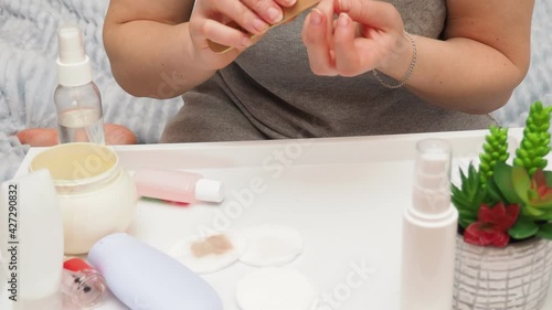
[[[304,248],[299,232],[265,224],[241,232],[247,239],[247,250],[240,260],[251,266],[282,266],[293,261]]]

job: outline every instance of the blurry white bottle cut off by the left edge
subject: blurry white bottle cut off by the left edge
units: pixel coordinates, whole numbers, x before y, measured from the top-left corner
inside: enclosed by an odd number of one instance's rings
[[[3,182],[0,206],[4,291],[13,297],[12,309],[62,309],[63,224],[50,172]]]

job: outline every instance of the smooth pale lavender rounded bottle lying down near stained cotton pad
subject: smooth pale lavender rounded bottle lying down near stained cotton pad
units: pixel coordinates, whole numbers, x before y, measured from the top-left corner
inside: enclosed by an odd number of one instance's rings
[[[164,253],[116,233],[97,242],[88,263],[130,310],[222,310],[215,290]]]

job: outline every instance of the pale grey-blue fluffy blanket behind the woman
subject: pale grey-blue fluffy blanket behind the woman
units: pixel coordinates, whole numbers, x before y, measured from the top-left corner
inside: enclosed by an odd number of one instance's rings
[[[56,30],[65,23],[76,23],[83,31],[106,122],[125,125],[140,142],[155,143],[167,120],[182,106],[180,98],[135,98],[114,81],[102,42],[107,4],[108,0],[0,0],[0,182],[13,177],[29,149],[14,132],[56,125],[52,99]],[[537,0],[531,68],[507,106],[493,114],[501,125],[521,126],[529,105],[552,93],[550,15],[552,1]]]

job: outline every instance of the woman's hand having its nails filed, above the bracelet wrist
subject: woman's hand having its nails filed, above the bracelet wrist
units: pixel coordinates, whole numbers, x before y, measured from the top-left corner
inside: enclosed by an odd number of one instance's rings
[[[406,73],[412,60],[400,13],[382,1],[322,0],[305,20],[302,41],[318,75],[355,76],[390,66]]]

